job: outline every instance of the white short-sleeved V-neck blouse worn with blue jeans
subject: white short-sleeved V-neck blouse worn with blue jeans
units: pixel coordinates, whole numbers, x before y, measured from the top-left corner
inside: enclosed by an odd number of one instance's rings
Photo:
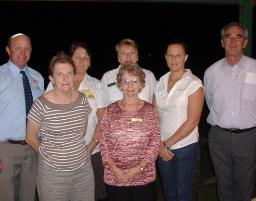
[[[203,87],[202,82],[189,69],[168,93],[168,79],[171,72],[163,75],[156,85],[155,97],[160,115],[161,140],[170,138],[187,120],[188,98]],[[198,141],[198,127],[171,148],[178,149]]]

